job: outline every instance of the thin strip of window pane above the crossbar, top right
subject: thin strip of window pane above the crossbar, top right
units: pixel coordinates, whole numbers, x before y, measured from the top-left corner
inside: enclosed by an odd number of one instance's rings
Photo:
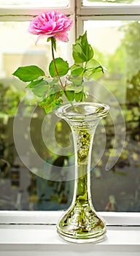
[[[96,6],[96,5],[123,5],[123,4],[136,4],[139,5],[139,0],[83,0],[82,5],[83,6]]]

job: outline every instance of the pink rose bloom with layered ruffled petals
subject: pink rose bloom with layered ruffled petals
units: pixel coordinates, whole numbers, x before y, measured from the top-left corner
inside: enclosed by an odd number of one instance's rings
[[[43,12],[31,21],[28,31],[37,34],[39,37],[55,37],[63,42],[68,42],[68,32],[71,29],[72,20],[61,12]]]

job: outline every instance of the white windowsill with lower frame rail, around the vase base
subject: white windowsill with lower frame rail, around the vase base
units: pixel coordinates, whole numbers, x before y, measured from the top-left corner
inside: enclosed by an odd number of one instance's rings
[[[106,240],[98,244],[63,241],[55,228],[61,214],[60,211],[1,211],[0,256],[140,255],[139,213],[100,213],[106,220],[107,233]],[[17,225],[9,224],[15,220]]]

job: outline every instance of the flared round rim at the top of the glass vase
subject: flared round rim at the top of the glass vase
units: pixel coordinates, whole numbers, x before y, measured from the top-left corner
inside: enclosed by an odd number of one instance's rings
[[[100,119],[107,116],[109,113],[109,105],[94,103],[94,102],[74,102],[73,106],[70,103],[61,105],[56,111],[56,115],[69,120],[87,121],[92,119]]]

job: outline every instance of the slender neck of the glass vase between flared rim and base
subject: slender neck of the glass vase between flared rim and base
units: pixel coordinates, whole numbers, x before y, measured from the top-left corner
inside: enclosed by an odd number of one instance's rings
[[[92,127],[72,126],[74,138],[75,155],[75,184],[74,200],[87,204],[91,203],[90,195],[90,159],[93,147],[93,136],[96,131],[98,121]]]

